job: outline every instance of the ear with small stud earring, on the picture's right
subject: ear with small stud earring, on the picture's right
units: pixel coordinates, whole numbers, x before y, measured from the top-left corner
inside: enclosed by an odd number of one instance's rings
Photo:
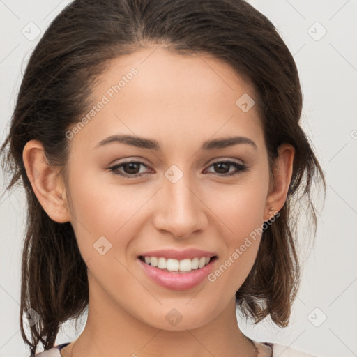
[[[293,173],[294,154],[294,146],[290,144],[281,144],[278,147],[278,158],[273,165],[274,180],[269,185],[264,220],[273,218],[284,206]]]

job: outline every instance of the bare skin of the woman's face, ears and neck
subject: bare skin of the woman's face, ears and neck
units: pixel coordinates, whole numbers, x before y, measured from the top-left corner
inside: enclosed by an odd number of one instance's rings
[[[236,105],[243,93],[256,98],[254,89],[227,64],[202,54],[149,46],[121,56],[96,84],[93,105],[132,67],[137,75],[70,139],[65,179],[57,176],[58,167],[47,165],[40,142],[31,140],[24,148],[36,197],[52,220],[71,222],[88,266],[86,326],[61,354],[256,356],[238,327],[234,294],[252,268],[261,236],[215,282],[204,280],[185,291],[151,281],[137,256],[161,248],[201,248],[216,252],[217,269],[271,218],[271,207],[276,212],[284,205],[294,148],[280,146],[273,186],[257,107],[243,112]],[[162,151],[119,143],[95,148],[114,134],[155,139]],[[257,149],[249,144],[199,149],[208,139],[233,134],[252,139]],[[131,172],[144,176],[125,179],[108,169],[124,158],[143,162]],[[234,166],[212,165],[227,159],[249,170],[227,177],[236,172]],[[183,173],[176,183],[165,177],[172,165]],[[119,171],[130,174],[130,167]],[[100,236],[112,244],[105,255],[93,249]],[[165,319],[172,308],[182,316],[176,326]]]

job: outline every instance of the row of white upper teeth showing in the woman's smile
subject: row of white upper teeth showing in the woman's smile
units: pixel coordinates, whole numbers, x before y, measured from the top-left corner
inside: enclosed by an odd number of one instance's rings
[[[193,259],[166,259],[158,257],[144,257],[146,264],[151,264],[151,266],[156,266],[159,269],[167,269],[168,271],[192,271],[192,269],[203,268],[206,266],[210,257],[200,257]]]

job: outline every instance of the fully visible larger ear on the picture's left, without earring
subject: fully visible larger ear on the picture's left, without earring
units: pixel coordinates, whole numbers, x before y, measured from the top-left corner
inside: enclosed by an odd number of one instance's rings
[[[31,182],[41,206],[55,222],[70,221],[66,190],[59,176],[59,167],[50,165],[45,157],[43,144],[38,140],[30,140],[22,152],[26,174]]]

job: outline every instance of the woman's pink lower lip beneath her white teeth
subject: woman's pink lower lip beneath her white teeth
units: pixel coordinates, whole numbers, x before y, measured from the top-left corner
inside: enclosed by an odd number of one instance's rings
[[[203,268],[198,268],[189,271],[188,273],[169,273],[168,271],[162,271],[155,266],[146,264],[138,258],[140,264],[144,268],[144,271],[147,275],[149,275],[149,278],[162,287],[172,290],[188,290],[192,289],[192,287],[196,287],[204,281],[209,273],[211,273],[216,259],[217,258],[211,259],[211,261]]]

